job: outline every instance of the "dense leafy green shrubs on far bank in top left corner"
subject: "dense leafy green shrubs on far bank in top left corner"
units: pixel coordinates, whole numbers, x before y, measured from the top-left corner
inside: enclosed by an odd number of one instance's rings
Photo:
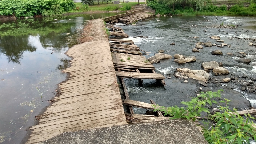
[[[68,12],[75,8],[72,0],[1,0],[0,15],[15,15],[16,17],[47,15]],[[50,11],[48,11],[50,10]],[[46,12],[47,11],[47,12]]]

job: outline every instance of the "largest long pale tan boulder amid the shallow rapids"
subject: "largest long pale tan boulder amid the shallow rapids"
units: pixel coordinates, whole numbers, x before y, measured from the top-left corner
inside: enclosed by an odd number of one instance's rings
[[[204,70],[190,70],[188,68],[177,68],[177,72],[184,73],[189,78],[202,80],[206,82],[209,79],[209,74]],[[194,76],[196,75],[196,76]],[[200,75],[200,76],[199,76]],[[192,76],[192,77],[191,77]],[[204,78],[203,78],[204,77]]]

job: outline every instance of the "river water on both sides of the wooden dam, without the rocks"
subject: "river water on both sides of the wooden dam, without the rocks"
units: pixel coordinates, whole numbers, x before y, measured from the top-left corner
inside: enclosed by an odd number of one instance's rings
[[[93,14],[93,18],[106,17],[116,13]],[[217,19],[216,19],[217,18]],[[23,20],[0,23],[0,143],[24,143],[26,129],[34,124],[35,116],[40,114],[42,108],[49,105],[49,100],[56,94],[56,84],[65,80],[66,75],[61,70],[68,67],[68,58],[64,53],[68,48],[77,44],[76,38],[79,29],[83,28],[86,20],[92,19],[90,15],[72,15],[57,18],[29,18]],[[159,20],[159,21],[158,21]],[[208,21],[209,20],[209,21]],[[209,28],[210,26],[225,24],[243,25],[237,29]],[[181,101],[189,101],[199,92],[195,81],[177,79],[173,76],[176,68],[201,69],[202,62],[234,62],[235,56],[226,55],[227,52],[246,52],[252,62],[256,62],[255,47],[248,47],[250,40],[255,38],[255,17],[153,17],[142,20],[136,25],[121,26],[125,33],[132,36],[148,36],[148,38],[132,39],[140,49],[152,52],[147,58],[153,56],[158,50],[166,54],[195,55],[196,62],[179,65],[173,59],[161,60],[154,64],[158,72],[165,76],[166,87],[156,83],[155,80],[143,80],[139,85],[136,79],[125,79],[129,96],[132,100],[150,103],[153,99],[162,106],[179,105]],[[196,25],[196,26],[192,26]],[[206,28],[207,26],[207,28]],[[203,30],[206,30],[204,32]],[[237,32],[237,33],[235,33]],[[192,53],[195,43],[211,41],[208,36],[219,35],[231,48],[218,48],[223,56],[214,56],[210,52],[217,47],[200,50]],[[192,37],[198,36],[198,39]],[[241,39],[229,37],[239,36]],[[169,46],[171,43],[173,46]],[[52,54],[51,54],[52,53]],[[229,75],[213,76],[221,79],[228,76],[241,76],[247,74],[256,78],[256,69],[227,68]],[[245,79],[244,79],[245,80]],[[240,91],[237,83],[213,83],[209,81],[208,87],[203,90],[224,89],[223,96],[232,100],[231,107],[249,108],[256,106],[255,94]],[[134,108],[136,113],[145,113],[145,110]]]

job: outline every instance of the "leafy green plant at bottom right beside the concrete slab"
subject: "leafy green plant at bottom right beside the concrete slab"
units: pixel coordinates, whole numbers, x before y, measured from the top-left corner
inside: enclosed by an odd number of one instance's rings
[[[206,104],[212,105],[217,103],[215,98],[221,98],[220,91],[217,92],[201,92],[196,98],[192,98],[189,102],[181,102],[186,107],[159,107],[154,111],[163,111],[166,115],[170,116],[170,119],[186,118],[188,120],[195,121],[196,117],[200,116],[201,112],[210,114],[209,109],[205,108]],[[228,107],[230,100],[225,99],[219,101],[225,103],[225,106],[219,106],[220,112],[216,112],[214,115],[209,115],[209,120],[215,122],[210,128],[203,128],[203,135],[209,144],[242,144],[246,142],[250,143],[252,138],[256,139],[256,128],[253,127],[254,123],[249,114],[244,117],[237,113],[237,109],[233,108],[231,111]],[[155,106],[155,105],[154,105]],[[156,107],[156,106],[155,106]],[[207,122],[204,122],[207,124]],[[209,125],[209,123],[207,124]]]

